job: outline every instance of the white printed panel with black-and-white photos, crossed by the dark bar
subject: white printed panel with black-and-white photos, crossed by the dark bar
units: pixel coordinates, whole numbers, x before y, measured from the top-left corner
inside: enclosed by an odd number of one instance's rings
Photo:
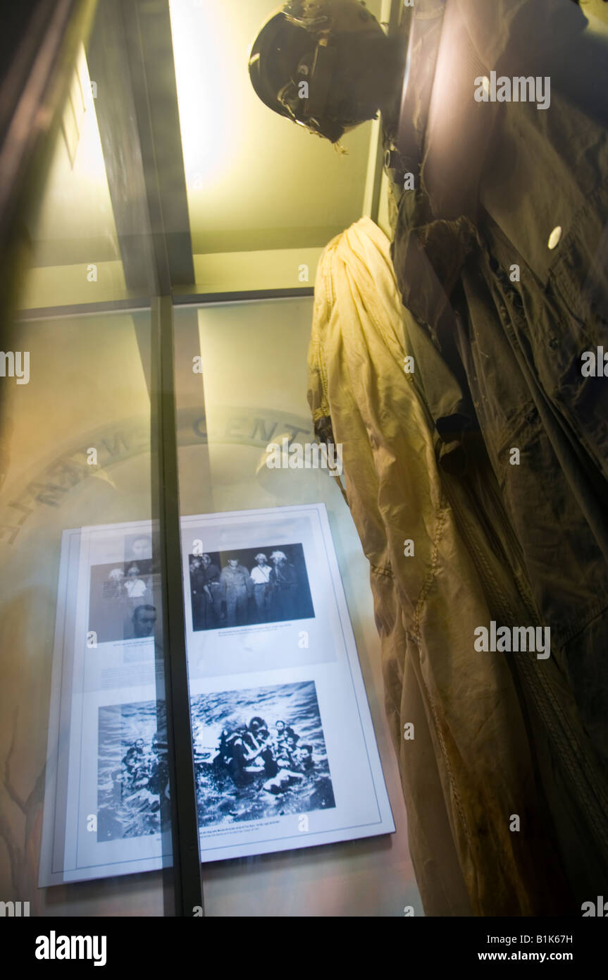
[[[151,552],[64,532],[44,885],[170,860]],[[393,832],[324,506],[184,517],[182,556],[202,859]]]

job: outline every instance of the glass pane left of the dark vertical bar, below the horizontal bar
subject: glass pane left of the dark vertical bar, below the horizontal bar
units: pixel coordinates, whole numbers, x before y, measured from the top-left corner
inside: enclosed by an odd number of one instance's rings
[[[2,836],[3,879],[31,914],[163,914],[162,872],[139,873],[161,867],[167,778],[149,332],[148,313],[18,324],[29,379],[2,419]]]

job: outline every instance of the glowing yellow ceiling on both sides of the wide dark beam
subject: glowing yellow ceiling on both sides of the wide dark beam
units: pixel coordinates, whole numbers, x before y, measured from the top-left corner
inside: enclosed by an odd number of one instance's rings
[[[380,0],[367,6],[380,18]],[[299,286],[300,263],[308,264],[310,277],[304,283],[311,285],[320,249],[363,214],[372,124],[343,138],[348,150],[343,156],[326,140],[276,116],[254,92],[249,49],[276,9],[274,0],[169,0],[188,217],[201,292]],[[100,16],[103,21],[101,9]],[[170,46],[160,41],[170,59]],[[121,57],[118,46],[115,62],[116,57]],[[128,58],[119,64],[123,76],[100,77],[99,92],[97,81],[91,92],[84,52],[79,57],[42,207],[29,228],[26,308],[144,294],[141,289],[129,294],[125,287],[106,146],[102,149],[98,126],[111,95],[128,107],[128,93],[120,85],[130,85],[131,66]],[[157,72],[154,79],[156,97],[174,100],[170,64],[164,69],[168,73]],[[113,84],[114,93],[109,91]],[[138,113],[143,112],[141,92],[136,98]],[[119,127],[115,133],[124,139]],[[118,142],[112,161],[115,207],[116,201],[124,206],[133,193],[122,160],[129,157],[127,151]],[[164,215],[169,226],[171,214],[169,208]],[[91,263],[99,264],[94,281]]]

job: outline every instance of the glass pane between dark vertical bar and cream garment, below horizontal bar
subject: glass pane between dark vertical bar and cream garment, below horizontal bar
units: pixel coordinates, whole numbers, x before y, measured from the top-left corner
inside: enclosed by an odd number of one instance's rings
[[[409,905],[421,914],[382,706],[368,566],[349,509],[326,469],[267,466],[269,444],[283,446],[285,439],[292,452],[300,446],[304,453],[313,440],[305,394],[311,317],[308,298],[178,309],[175,315],[206,912],[399,915]],[[315,537],[325,509],[328,533]],[[332,577],[327,569],[334,551]],[[296,585],[283,587],[290,576]],[[348,610],[340,630],[332,616],[333,594],[342,586]],[[347,670],[343,649],[349,618],[364,681],[360,717],[367,698],[374,725],[361,741],[351,727],[351,703],[332,686],[340,676],[356,687],[356,665]],[[352,656],[356,661],[354,650]],[[367,761],[361,764],[367,752],[373,768],[376,742],[384,778],[378,771],[370,778]],[[345,776],[349,769],[358,773],[358,798]],[[357,809],[375,792],[382,810],[385,780],[394,833],[390,812],[382,814],[383,826]],[[323,795],[328,781],[333,798]],[[302,821],[299,830],[295,821]],[[222,849],[241,857],[217,859]]]

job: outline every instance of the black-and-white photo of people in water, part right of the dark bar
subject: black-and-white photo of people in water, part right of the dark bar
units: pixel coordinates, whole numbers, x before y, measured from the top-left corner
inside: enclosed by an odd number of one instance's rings
[[[313,681],[192,699],[199,826],[335,808]]]

